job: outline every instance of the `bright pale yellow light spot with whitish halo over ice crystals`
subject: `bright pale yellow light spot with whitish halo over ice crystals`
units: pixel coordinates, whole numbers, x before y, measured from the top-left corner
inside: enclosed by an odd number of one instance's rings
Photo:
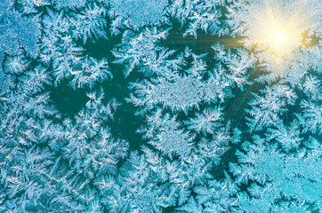
[[[311,27],[307,0],[285,4],[278,0],[254,0],[254,5],[241,14],[248,19],[245,46],[275,66],[288,63],[295,51],[300,50],[305,39],[303,35]]]

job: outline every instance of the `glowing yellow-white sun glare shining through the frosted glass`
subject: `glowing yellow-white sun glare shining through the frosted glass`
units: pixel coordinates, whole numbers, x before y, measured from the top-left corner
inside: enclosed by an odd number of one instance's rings
[[[277,3],[263,1],[262,9],[251,12],[253,19],[248,38],[257,50],[265,51],[279,63],[291,59],[294,51],[302,46],[302,35],[308,29],[308,15],[303,12],[305,0],[288,5],[287,10]]]

